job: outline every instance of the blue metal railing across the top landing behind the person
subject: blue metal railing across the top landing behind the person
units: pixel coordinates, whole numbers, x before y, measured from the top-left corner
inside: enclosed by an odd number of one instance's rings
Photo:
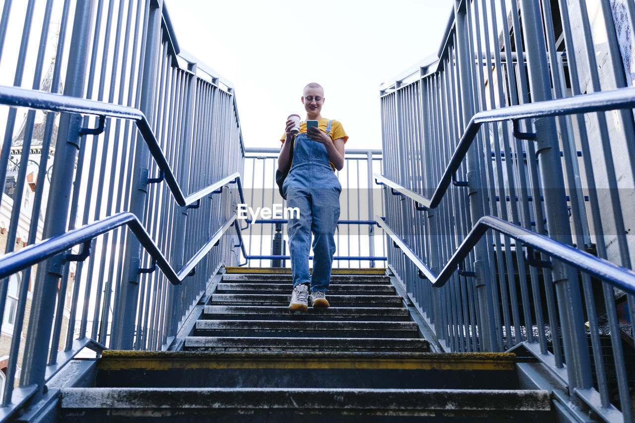
[[[275,140],[274,140],[275,141]],[[272,142],[274,142],[272,141]],[[280,150],[270,148],[247,148],[244,163],[245,198],[253,210],[257,207],[271,208],[286,201],[280,196],[274,183],[277,156]],[[384,215],[382,194],[373,183],[373,173],[381,168],[382,152],[378,150],[347,149],[344,168],[337,171],[342,184],[340,194],[340,219],[338,220],[333,267],[382,267],[385,244],[383,237],[375,237],[375,214]],[[251,218],[250,213],[248,216]],[[282,216],[284,217],[284,216]],[[244,222],[244,244],[247,251],[246,264],[269,267],[274,264],[290,267],[288,248],[274,251],[274,240],[286,243],[286,218],[258,218],[254,224]],[[286,244],[281,243],[284,246]],[[309,253],[309,258],[312,254]]]

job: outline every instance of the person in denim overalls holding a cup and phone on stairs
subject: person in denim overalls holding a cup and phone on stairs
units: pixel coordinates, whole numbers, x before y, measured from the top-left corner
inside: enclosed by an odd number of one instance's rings
[[[335,170],[344,168],[344,144],[349,138],[340,122],[322,117],[324,90],[320,84],[307,84],[301,101],[307,112],[306,119],[300,123],[297,135],[292,133],[295,122],[286,121],[278,156],[279,170],[291,165],[283,183],[287,207],[300,210],[299,217],[291,213],[287,225],[293,275],[289,304],[292,311],[307,311],[309,302],[312,307],[329,305],[326,290],[331,281],[342,192]],[[307,132],[306,121],[309,120],[318,121],[318,127]],[[291,149],[293,157],[290,157]],[[309,274],[311,234],[314,257],[313,272]]]

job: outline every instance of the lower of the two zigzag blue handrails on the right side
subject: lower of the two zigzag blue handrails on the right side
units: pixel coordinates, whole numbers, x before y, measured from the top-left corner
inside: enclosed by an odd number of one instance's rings
[[[392,241],[401,248],[401,251],[417,266],[421,274],[431,281],[431,285],[435,287],[445,285],[445,283],[450,280],[452,274],[457,271],[458,265],[469,255],[472,248],[479,242],[485,232],[488,231],[488,229],[493,229],[510,238],[521,241],[535,250],[558,258],[558,260],[566,264],[577,267],[577,269],[588,272],[599,279],[603,279],[625,292],[635,293],[634,271],[620,267],[603,258],[595,257],[587,252],[580,251],[573,246],[555,241],[547,236],[514,225],[498,217],[484,216],[479,218],[476,225],[474,225],[469,234],[467,234],[461,245],[458,246],[457,250],[438,275],[434,274],[434,272],[425,265],[417,256],[417,253],[413,252],[382,218],[375,216],[375,221],[384,229],[386,234],[391,237]]]

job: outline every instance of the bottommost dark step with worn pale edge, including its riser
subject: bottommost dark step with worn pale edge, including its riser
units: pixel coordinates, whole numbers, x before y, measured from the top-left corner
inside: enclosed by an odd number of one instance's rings
[[[360,418],[371,422],[447,421],[448,417],[518,422],[544,420],[551,411],[549,393],[538,390],[65,388],[61,396],[65,422],[93,423],[115,416],[117,422],[190,422],[193,418],[317,422],[325,417],[333,422],[358,422]]]

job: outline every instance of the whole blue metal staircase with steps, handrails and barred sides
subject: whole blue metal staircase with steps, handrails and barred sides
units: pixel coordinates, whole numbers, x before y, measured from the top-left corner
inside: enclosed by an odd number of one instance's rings
[[[253,201],[282,201],[278,150],[245,148],[164,3],[4,3],[0,422],[632,420],[634,2],[455,0],[380,88],[382,151],[347,150],[335,260],[386,273],[335,274],[307,314],[243,267],[289,259],[285,219],[237,213],[250,160]]]

